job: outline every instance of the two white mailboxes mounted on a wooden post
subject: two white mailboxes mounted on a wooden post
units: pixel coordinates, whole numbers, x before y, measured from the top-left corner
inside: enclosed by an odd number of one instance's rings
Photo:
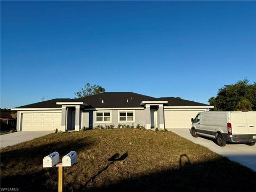
[[[43,159],[43,167],[58,167],[59,169],[59,184],[58,191],[63,191],[63,166],[72,166],[76,163],[76,151],[70,151],[67,155],[63,156],[62,163],[60,162],[60,155],[58,152],[53,152]]]

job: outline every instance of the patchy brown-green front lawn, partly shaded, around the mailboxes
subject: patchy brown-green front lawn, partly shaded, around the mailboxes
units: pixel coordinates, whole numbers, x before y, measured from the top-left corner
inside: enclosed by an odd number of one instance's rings
[[[77,152],[65,191],[245,191],[256,173],[172,132],[90,130],[52,133],[1,149],[1,187],[57,191],[57,168],[43,157]]]

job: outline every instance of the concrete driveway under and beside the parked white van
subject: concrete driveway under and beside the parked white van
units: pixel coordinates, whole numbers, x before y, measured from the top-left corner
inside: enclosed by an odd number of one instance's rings
[[[256,171],[256,145],[247,146],[246,144],[227,144],[225,147],[220,147],[213,140],[207,138],[194,138],[190,134],[189,129],[171,129],[173,133],[180,135],[194,143],[202,145],[214,151],[217,154],[228,157],[231,161],[238,162],[244,166]]]

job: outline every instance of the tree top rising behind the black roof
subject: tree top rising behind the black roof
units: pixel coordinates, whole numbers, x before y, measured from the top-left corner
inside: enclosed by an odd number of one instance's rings
[[[75,93],[75,98],[84,98],[89,95],[94,95],[98,93],[105,92],[105,89],[99,85],[91,85],[90,83],[86,83],[84,87]]]

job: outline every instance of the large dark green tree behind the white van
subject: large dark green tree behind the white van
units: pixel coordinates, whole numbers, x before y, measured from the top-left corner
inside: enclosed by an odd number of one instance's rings
[[[249,84],[248,79],[235,84],[225,85],[217,97],[208,100],[214,110],[256,110],[256,83]]]

